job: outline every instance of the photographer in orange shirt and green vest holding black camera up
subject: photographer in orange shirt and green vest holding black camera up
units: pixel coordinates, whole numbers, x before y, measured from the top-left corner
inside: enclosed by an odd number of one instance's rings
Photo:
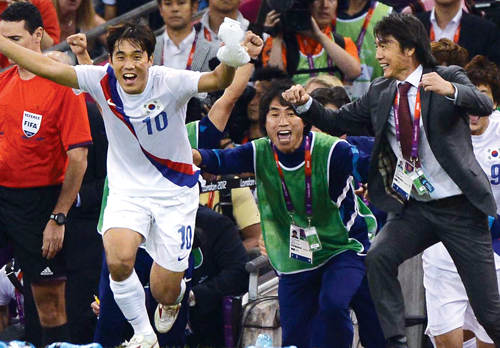
[[[361,74],[356,45],[332,30],[337,0],[295,1],[291,8],[275,0],[270,5],[274,10],[265,22],[271,34],[262,53],[265,66],[287,71],[300,84],[321,73],[341,80],[353,80]],[[304,16],[310,16],[311,21],[304,21]]]

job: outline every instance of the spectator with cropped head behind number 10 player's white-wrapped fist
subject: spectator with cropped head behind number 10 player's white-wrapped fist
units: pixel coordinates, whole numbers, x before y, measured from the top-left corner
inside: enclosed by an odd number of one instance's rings
[[[241,0],[210,0],[208,2],[208,11],[201,17],[198,35],[213,42],[217,47],[220,46],[222,41],[217,36],[217,33],[225,17],[240,22],[243,31],[248,30],[250,23],[238,10],[240,1]]]

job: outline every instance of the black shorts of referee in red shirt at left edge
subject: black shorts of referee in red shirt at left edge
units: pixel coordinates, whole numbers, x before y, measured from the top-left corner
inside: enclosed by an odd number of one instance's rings
[[[43,231],[56,206],[61,186],[0,186],[0,237],[12,241],[24,276],[32,283],[66,279],[64,246],[56,256],[42,256]]]

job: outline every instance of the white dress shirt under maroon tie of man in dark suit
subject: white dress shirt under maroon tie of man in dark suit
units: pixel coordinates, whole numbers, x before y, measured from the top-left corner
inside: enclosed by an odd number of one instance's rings
[[[400,83],[409,82],[412,86],[408,91],[408,104],[410,106],[411,117],[415,117],[415,103],[417,100],[417,91],[420,80],[422,79],[423,68],[421,65],[418,66],[415,71],[413,71],[410,76],[406,78],[405,81],[398,81],[398,86]],[[450,103],[453,101],[450,100]],[[398,100],[399,105],[399,100]],[[437,115],[436,115],[437,116]],[[429,115],[433,117],[433,115]],[[394,123],[394,106],[391,108],[391,113],[389,115],[389,125],[387,127],[387,139],[391,145],[392,151],[397,157],[403,157],[401,154],[401,149],[398,145],[396,139],[396,126]],[[434,191],[430,193],[431,199],[441,199],[451,196],[456,196],[462,194],[460,188],[453,182],[450,176],[444,171],[441,165],[436,160],[436,157],[432,153],[427,140],[427,135],[425,134],[423,117],[420,118],[420,134],[418,139],[418,157],[420,159],[420,164],[422,166],[422,171],[429,182],[434,186]],[[412,195],[413,198],[417,200],[429,200],[429,196],[419,196],[417,194]]]

